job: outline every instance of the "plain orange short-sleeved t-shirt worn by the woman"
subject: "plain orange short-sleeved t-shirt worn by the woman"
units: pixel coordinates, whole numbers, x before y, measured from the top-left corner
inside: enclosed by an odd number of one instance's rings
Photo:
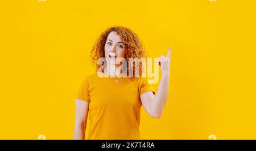
[[[76,97],[89,103],[87,139],[140,139],[140,96],[154,88],[146,77],[116,79],[95,72],[82,80]]]

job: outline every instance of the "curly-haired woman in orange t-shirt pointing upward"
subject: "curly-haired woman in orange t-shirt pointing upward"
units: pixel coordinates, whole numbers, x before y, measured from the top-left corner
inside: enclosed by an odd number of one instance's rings
[[[125,27],[106,29],[92,49],[91,57],[98,72],[85,76],[77,93],[73,139],[85,139],[87,117],[90,120],[87,139],[140,139],[141,106],[152,118],[160,118],[168,100],[170,53],[171,48],[167,57],[159,57],[162,77],[155,93],[148,79],[141,77],[141,70],[140,77],[120,77],[115,72],[120,64],[117,58],[146,57],[137,34]],[[102,57],[106,60],[103,65],[98,64]],[[131,65],[128,63],[127,67]],[[103,70],[99,70],[101,67]],[[99,73],[104,76],[99,77]]]

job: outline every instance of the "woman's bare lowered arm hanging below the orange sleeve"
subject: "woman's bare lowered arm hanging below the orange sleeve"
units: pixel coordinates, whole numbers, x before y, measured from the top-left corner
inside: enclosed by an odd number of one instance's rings
[[[85,139],[85,128],[88,115],[88,105],[89,103],[76,98],[76,111],[75,111],[75,130],[73,139],[74,140],[84,140]]]

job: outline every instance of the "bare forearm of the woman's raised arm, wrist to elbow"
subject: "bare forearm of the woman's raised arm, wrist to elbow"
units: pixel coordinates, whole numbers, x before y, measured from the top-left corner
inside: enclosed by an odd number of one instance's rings
[[[154,97],[154,99],[151,101],[151,112],[155,117],[159,118],[162,115],[164,106],[166,105],[166,102],[168,100],[168,92],[169,92],[169,81],[170,76],[162,75],[158,87],[158,91]]]

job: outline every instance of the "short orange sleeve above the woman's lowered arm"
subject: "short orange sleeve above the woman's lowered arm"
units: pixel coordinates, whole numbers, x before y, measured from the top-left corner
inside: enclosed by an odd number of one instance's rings
[[[88,80],[86,79],[86,77],[84,77],[77,91],[76,98],[89,102],[90,101],[89,96],[90,96],[90,90],[89,90]]]

